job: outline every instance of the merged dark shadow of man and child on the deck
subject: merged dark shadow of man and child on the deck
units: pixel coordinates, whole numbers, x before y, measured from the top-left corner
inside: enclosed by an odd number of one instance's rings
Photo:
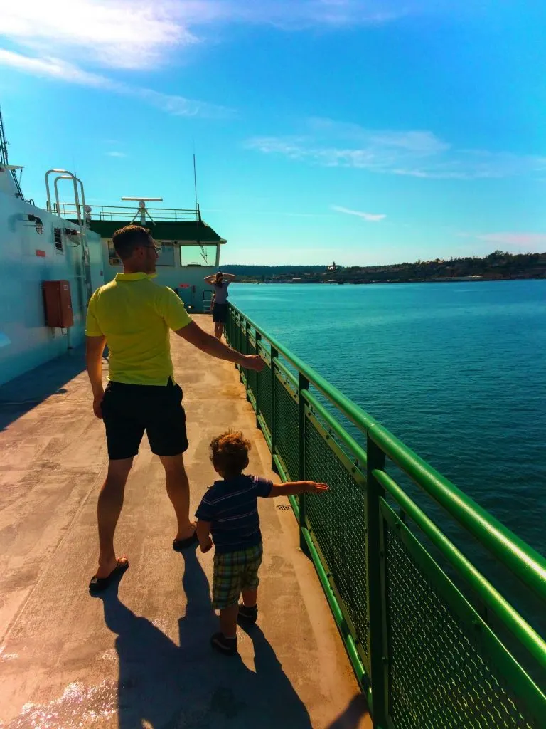
[[[128,609],[114,586],[102,596],[106,625],[117,634],[119,729],[312,729],[304,704],[258,626],[247,631],[256,673],[238,656],[213,652],[209,640],[218,630],[218,618],[208,580],[194,549],[183,558],[187,607],[178,621],[180,646]]]

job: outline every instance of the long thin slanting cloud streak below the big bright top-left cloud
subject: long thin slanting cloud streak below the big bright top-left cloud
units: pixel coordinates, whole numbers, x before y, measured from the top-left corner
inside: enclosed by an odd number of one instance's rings
[[[22,71],[25,74],[31,74],[32,76],[55,79],[69,84],[103,88],[117,94],[140,98],[147,104],[156,106],[158,109],[175,117],[225,119],[234,116],[233,109],[228,109],[226,106],[132,86],[111,79],[103,74],[84,71],[84,69],[79,68],[74,63],[68,63],[68,61],[63,61],[60,58],[51,58],[50,56],[32,58],[0,48],[0,66],[10,66],[13,69]]]

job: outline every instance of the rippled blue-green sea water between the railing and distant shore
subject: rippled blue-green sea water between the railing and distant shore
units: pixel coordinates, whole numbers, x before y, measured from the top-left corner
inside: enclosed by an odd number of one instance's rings
[[[232,284],[229,293],[546,554],[546,281]]]

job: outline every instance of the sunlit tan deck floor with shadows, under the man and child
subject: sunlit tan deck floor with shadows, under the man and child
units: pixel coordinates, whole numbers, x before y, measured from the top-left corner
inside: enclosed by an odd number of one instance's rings
[[[249,472],[273,477],[234,367],[178,338],[173,359],[192,508],[214,478],[208,443],[228,427],[253,443]],[[146,439],[116,534],[130,569],[102,599],[89,595],[106,446],[82,367],[76,352],[0,388],[0,727],[371,727],[293,513],[277,508],[287,499],[260,504],[260,617],[240,630],[240,657],[210,649],[212,552],[173,552]]]

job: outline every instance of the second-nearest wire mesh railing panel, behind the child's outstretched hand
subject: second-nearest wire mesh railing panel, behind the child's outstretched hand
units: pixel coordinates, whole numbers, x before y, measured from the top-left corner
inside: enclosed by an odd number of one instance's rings
[[[357,644],[367,653],[365,486],[309,418],[305,423],[305,475],[330,487],[321,496],[306,496],[306,515],[354,626]]]

